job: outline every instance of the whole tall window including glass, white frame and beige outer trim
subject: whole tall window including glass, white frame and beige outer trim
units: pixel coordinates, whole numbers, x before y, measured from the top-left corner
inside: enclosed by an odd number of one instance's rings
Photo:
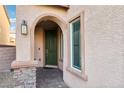
[[[88,80],[85,70],[85,33],[84,12],[74,15],[69,20],[70,59],[66,70],[76,77]]]

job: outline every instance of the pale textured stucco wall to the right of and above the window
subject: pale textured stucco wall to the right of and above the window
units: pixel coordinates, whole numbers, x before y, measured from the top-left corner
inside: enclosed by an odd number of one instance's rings
[[[66,71],[65,82],[70,87],[124,87],[124,6],[70,6],[68,19],[80,11],[88,81]]]

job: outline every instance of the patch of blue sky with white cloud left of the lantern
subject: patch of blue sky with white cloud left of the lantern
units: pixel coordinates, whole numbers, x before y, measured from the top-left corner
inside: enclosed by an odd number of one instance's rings
[[[10,31],[15,32],[16,30],[16,5],[6,5],[6,10],[7,10],[10,23],[11,23]]]

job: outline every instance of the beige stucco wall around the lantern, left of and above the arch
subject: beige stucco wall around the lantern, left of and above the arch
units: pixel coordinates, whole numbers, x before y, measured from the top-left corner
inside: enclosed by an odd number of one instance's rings
[[[29,62],[33,60],[32,59],[33,57],[31,55],[32,48],[34,47],[34,45],[32,45],[32,42],[33,42],[32,39],[34,38],[33,31],[36,25],[35,22],[38,22],[40,20],[40,19],[37,20],[40,16],[47,15],[47,14],[51,14],[51,15],[53,14],[53,15],[60,17],[60,19],[66,20],[67,19],[66,13],[67,13],[66,9],[61,8],[61,7],[55,7],[55,6],[54,7],[53,6],[40,6],[40,5],[39,6],[35,6],[35,5],[34,6],[16,6],[16,15],[17,15],[16,61]],[[26,20],[28,24],[28,35],[27,36],[21,35],[22,20]]]

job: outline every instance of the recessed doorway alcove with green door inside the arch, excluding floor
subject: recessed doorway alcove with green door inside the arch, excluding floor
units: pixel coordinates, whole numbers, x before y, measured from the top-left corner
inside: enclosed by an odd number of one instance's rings
[[[34,31],[34,60],[39,67],[52,67],[63,70],[63,33],[60,26],[42,19]]]

